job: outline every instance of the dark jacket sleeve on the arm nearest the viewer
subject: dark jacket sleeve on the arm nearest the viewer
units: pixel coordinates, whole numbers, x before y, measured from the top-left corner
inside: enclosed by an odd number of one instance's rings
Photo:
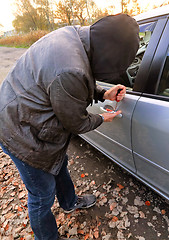
[[[91,131],[103,122],[98,114],[87,112],[88,94],[87,78],[81,72],[62,73],[50,85],[53,111],[63,127],[71,133]]]

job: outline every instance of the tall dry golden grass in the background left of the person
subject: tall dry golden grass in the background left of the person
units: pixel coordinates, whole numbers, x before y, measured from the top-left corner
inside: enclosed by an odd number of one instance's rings
[[[27,34],[2,37],[0,46],[28,48],[38,39],[49,33],[48,31],[31,31]]]

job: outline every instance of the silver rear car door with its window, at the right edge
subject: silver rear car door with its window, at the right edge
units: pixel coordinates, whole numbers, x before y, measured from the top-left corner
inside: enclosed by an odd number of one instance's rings
[[[169,200],[169,22],[132,118],[137,175]]]

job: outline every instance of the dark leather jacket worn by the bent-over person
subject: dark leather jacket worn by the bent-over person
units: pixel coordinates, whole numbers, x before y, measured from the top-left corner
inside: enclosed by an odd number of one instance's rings
[[[29,165],[57,174],[71,133],[97,128],[90,27],[64,27],[33,44],[0,88],[0,142]]]

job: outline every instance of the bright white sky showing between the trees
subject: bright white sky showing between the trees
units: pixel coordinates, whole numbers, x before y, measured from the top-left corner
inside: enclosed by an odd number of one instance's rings
[[[120,0],[95,0],[99,8],[105,8],[110,5],[116,4],[116,8],[120,9]],[[165,2],[165,0],[138,0],[140,6],[145,9],[146,7],[151,8],[153,5],[159,5]],[[0,0],[0,24],[4,27],[0,30],[8,31],[13,29],[12,21],[14,20],[13,10],[14,10],[14,0]],[[118,12],[119,10],[117,10]]]

